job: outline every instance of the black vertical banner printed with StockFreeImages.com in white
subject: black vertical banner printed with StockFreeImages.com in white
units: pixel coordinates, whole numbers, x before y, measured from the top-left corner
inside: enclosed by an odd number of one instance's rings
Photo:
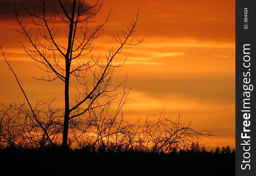
[[[256,7],[236,1],[236,175],[256,173]]]

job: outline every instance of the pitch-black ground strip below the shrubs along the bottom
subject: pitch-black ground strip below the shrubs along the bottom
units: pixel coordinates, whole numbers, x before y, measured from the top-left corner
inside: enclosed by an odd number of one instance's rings
[[[1,171],[27,175],[235,175],[235,152],[145,153],[126,151],[0,150]],[[166,174],[164,174],[166,175]]]

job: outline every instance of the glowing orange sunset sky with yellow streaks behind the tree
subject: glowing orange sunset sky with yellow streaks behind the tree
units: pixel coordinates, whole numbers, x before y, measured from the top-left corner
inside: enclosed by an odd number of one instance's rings
[[[56,96],[56,106],[63,107],[63,85],[31,77],[44,73],[19,43],[25,41],[14,29],[19,26],[11,19],[13,6],[13,0],[0,2],[0,43],[10,53],[11,66],[30,101]],[[192,121],[195,130],[220,134],[212,140],[202,138],[209,142],[210,149],[227,145],[235,148],[235,0],[104,0],[91,24],[103,21],[110,9],[109,21],[95,40],[95,55],[104,55],[112,46],[118,46],[113,34],[126,29],[137,10],[134,41],[145,37],[139,45],[124,46],[113,61],[120,63],[127,57],[113,77],[113,83],[118,84],[128,72],[127,88],[132,88],[133,93],[124,107],[125,118],[143,121],[149,114],[156,114],[150,117],[154,121],[163,109],[165,116],[173,118],[179,111],[183,113],[183,125]],[[20,15],[24,21],[28,18]],[[17,101],[17,96],[23,100],[2,60],[0,72],[0,101],[9,105]],[[70,88],[71,94],[74,89]]]

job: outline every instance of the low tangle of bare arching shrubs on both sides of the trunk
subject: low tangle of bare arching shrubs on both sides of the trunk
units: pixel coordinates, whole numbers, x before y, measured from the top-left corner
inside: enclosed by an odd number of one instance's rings
[[[51,109],[52,101],[40,101],[35,109],[41,125],[47,130],[50,143],[40,126],[33,120],[33,115],[26,109],[25,103],[12,105],[0,110],[0,144],[4,147],[13,146],[21,149],[48,150],[61,147],[62,126],[58,109]],[[3,106],[3,105],[2,105]],[[49,113],[51,116],[48,116]],[[156,121],[147,117],[144,123],[138,121],[129,124],[117,117],[107,116],[98,120],[88,119],[85,124],[74,125],[74,136],[69,138],[70,148],[84,149],[97,152],[118,153],[122,151],[138,151],[146,153],[178,153],[182,150],[204,151],[202,137],[216,136],[209,131],[195,131],[191,123],[187,126],[180,124],[182,114],[173,121],[163,113]],[[111,117],[111,118],[109,118]],[[79,127],[80,126],[80,127]],[[79,134],[76,135],[75,134]],[[217,151],[218,150],[218,151]],[[215,153],[228,153],[229,148],[216,149]]]

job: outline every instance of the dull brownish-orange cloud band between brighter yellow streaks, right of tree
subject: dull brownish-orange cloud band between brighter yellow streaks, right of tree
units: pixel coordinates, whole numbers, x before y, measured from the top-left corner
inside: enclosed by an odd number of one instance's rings
[[[127,85],[134,92],[144,92],[149,97],[170,100],[173,95],[180,99],[229,104],[235,101],[235,77],[213,77],[209,75],[187,75],[166,77],[130,76]]]

